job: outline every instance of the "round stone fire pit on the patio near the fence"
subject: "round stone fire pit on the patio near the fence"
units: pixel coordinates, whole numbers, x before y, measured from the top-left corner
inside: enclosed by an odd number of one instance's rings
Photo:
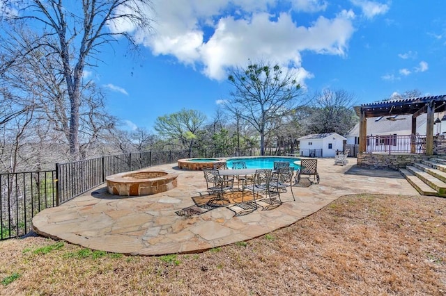
[[[154,195],[176,188],[178,174],[138,170],[107,176],[107,190],[112,195]]]

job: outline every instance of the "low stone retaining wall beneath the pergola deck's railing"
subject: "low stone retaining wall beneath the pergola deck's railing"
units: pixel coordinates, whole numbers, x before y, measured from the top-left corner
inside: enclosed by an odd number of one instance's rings
[[[429,159],[422,154],[357,154],[357,165],[359,167],[371,167],[374,169],[398,170],[406,165],[420,163],[422,160]]]

